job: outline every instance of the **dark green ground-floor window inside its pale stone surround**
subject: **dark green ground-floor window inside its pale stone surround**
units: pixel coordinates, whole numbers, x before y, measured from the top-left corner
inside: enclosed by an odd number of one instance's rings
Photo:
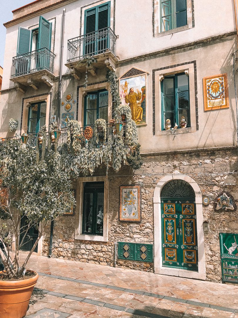
[[[103,236],[104,182],[85,182],[82,234]]]

